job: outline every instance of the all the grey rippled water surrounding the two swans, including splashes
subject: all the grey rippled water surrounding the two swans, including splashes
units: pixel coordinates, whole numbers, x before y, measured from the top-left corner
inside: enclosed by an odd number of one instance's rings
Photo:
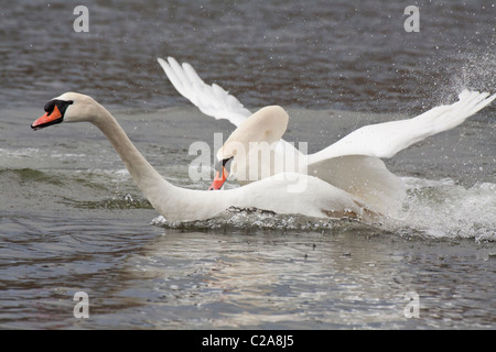
[[[249,109],[284,107],[285,140],[315,152],[465,87],[494,92],[493,2],[87,1],[88,33],[77,4],[0,10],[0,328],[496,327],[494,105],[387,161],[408,198],[374,226],[235,210],[169,224],[99,131],[30,129],[53,97],[90,95],[166,179],[205,189],[188,147],[233,125],[191,107],[157,57]],[[418,33],[403,30],[410,4]],[[73,315],[80,290],[88,319]],[[405,317],[410,292],[419,318]]]

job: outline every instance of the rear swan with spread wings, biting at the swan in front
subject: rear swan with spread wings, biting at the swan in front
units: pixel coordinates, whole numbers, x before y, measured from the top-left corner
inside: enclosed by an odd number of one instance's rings
[[[496,98],[496,95],[487,98],[487,92],[463,90],[455,103],[435,107],[413,119],[363,127],[317,153],[303,155],[281,139],[288,117],[284,120],[283,117],[260,111],[251,114],[218,85],[206,85],[190,64],[180,65],[173,57],[169,57],[168,62],[162,58],[158,61],[176,90],[203,113],[215,119],[227,119],[237,127],[217,152],[219,163],[216,169],[223,176],[217,176],[211,188],[222,187],[227,175],[223,166],[226,161],[234,158],[230,174],[241,185],[278,173],[303,173],[346,190],[356,200],[380,213],[398,209],[405,196],[401,179],[391,174],[380,158],[390,158],[417,142],[457,127]],[[263,139],[263,135],[270,138]],[[273,158],[298,162],[254,165],[250,152],[235,155],[234,148],[229,146],[235,142],[250,151],[248,141],[272,143],[278,138],[279,143],[271,148]],[[259,150],[255,148],[255,153],[258,154]],[[251,173],[252,168],[256,168],[255,173]]]

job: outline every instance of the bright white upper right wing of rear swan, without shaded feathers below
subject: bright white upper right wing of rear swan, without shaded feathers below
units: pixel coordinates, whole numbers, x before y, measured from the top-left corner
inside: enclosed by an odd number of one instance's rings
[[[396,153],[431,135],[460,125],[489,105],[496,95],[463,90],[459,101],[435,107],[413,119],[363,127],[326,148],[309,155],[309,164],[343,155],[367,155],[379,158]]]

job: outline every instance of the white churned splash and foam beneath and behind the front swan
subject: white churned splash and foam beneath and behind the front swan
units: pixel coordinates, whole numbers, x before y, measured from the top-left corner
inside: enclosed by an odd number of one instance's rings
[[[407,199],[397,218],[366,224],[351,219],[316,219],[277,215],[259,209],[229,208],[219,216],[191,222],[169,222],[162,216],[153,226],[180,230],[257,230],[338,232],[368,229],[405,237],[434,239],[496,240],[496,184],[481,183],[471,188],[452,179],[427,180],[403,177]]]

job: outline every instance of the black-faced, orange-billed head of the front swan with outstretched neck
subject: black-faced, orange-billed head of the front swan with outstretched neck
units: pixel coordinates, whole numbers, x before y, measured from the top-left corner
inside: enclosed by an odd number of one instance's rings
[[[45,103],[45,114],[31,124],[41,130],[61,122],[91,121],[99,105],[90,97],[77,92],[65,92]]]

